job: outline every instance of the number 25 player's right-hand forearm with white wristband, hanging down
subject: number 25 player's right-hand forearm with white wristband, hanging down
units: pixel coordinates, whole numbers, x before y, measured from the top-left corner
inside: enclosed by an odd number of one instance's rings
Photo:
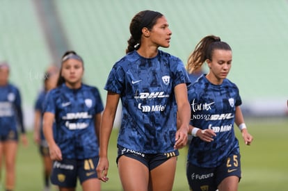
[[[250,145],[253,141],[253,136],[248,133],[240,106],[236,106],[235,124],[237,124],[238,128],[240,129],[245,144]]]

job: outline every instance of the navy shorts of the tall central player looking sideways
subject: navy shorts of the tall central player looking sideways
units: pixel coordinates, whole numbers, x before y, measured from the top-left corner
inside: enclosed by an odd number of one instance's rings
[[[162,163],[166,162],[169,158],[179,156],[179,151],[175,150],[173,152],[168,153],[141,153],[138,151],[134,151],[131,149],[127,149],[125,147],[121,147],[120,145],[118,147],[118,157],[116,159],[116,163],[118,164],[118,160],[120,156],[124,155],[129,158],[134,158],[141,163],[143,163],[146,167],[148,167],[149,170],[152,170]]]

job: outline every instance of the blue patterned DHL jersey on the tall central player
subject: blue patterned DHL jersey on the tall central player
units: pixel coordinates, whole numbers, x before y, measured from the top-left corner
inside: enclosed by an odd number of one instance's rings
[[[118,144],[142,153],[174,151],[174,88],[189,82],[182,61],[160,50],[154,58],[132,51],[115,63],[104,89],[122,101]]]

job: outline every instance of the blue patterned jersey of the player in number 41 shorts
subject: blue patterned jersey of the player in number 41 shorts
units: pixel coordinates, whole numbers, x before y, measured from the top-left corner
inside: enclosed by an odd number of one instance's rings
[[[55,115],[54,139],[63,158],[98,156],[95,115],[102,110],[102,99],[95,87],[82,84],[79,89],[70,89],[63,83],[48,92],[44,112]]]

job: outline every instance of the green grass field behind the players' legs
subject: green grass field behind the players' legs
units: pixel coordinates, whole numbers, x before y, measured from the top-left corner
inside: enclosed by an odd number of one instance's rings
[[[288,190],[288,119],[247,120],[246,124],[254,136],[251,146],[246,146],[241,140],[238,129],[237,138],[240,141],[241,165],[243,177],[239,190]],[[19,147],[17,155],[17,185],[18,191],[42,190],[42,163],[38,148],[29,132],[29,147]],[[102,190],[122,190],[115,164],[117,129],[111,135],[109,144],[109,182],[102,183]],[[186,149],[180,150],[177,173],[173,190],[189,190],[185,176]],[[5,172],[2,171],[2,178]],[[3,180],[1,180],[3,184]],[[3,188],[2,188],[3,189]],[[78,186],[77,190],[81,190]],[[1,190],[2,191],[2,190]]]

